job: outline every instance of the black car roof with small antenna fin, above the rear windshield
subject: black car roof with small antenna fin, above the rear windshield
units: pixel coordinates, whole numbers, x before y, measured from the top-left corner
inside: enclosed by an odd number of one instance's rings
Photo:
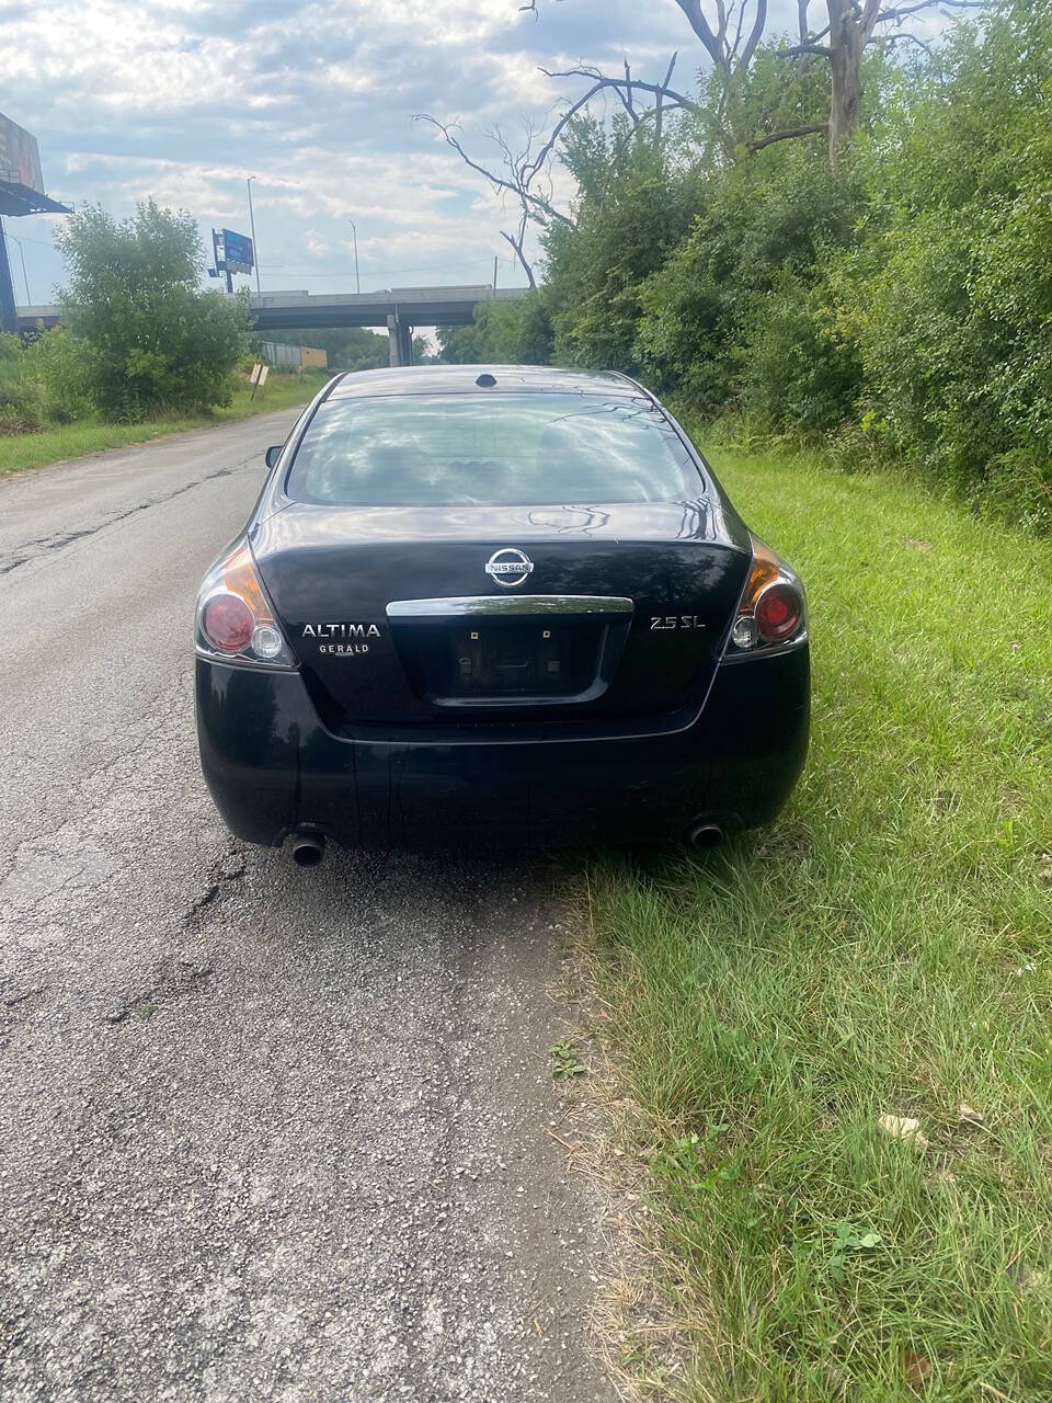
[[[480,376],[494,383],[480,386]],[[387,370],[345,370],[327,400],[367,398],[379,394],[491,394],[505,393],[602,394],[641,398],[647,394],[617,370],[564,370],[547,365],[411,365]]]

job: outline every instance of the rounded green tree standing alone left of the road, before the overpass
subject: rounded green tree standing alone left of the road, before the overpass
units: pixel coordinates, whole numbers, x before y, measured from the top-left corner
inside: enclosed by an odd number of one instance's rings
[[[116,220],[94,205],[56,241],[69,268],[62,320],[90,351],[102,414],[140,419],[229,403],[251,317],[247,299],[201,290],[205,254],[191,215],[150,199]]]

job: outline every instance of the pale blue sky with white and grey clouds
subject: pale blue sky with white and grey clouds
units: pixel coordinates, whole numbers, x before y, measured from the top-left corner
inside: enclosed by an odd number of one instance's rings
[[[656,81],[701,45],[673,0],[0,0],[0,111],[39,140],[48,194],[116,216],[153,196],[210,230],[248,233],[254,177],[262,290],[522,286],[499,199],[418,112],[485,133],[543,122],[578,63]],[[795,0],[774,0],[788,28]],[[53,219],[8,219],[20,303],[63,281]],[[27,299],[20,251],[29,283]],[[245,279],[237,279],[244,283]]]

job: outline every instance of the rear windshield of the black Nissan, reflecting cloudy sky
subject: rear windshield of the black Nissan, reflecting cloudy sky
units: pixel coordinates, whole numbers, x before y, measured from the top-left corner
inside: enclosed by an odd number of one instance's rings
[[[436,394],[318,405],[285,490],[341,506],[575,505],[697,497],[700,480],[644,398]]]

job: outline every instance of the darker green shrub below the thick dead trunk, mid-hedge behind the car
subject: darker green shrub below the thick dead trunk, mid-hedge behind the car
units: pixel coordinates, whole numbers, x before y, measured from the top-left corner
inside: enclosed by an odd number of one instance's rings
[[[644,372],[710,412],[738,405],[778,429],[839,422],[858,366],[823,282],[860,202],[850,171],[835,177],[801,145],[713,174],[689,236],[640,289]]]

